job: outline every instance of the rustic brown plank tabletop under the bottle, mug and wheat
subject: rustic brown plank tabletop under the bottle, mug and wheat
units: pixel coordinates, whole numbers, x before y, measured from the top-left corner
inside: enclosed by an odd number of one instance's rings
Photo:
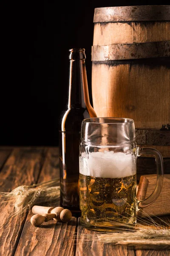
[[[9,192],[20,185],[31,185],[59,176],[58,148],[0,148],[0,191]],[[0,255],[2,256],[170,256],[170,250],[137,250],[113,246],[85,239],[86,230],[79,218],[72,217],[68,223],[49,221],[34,227],[30,223],[31,211],[6,218],[12,211],[11,204],[0,205]],[[170,222],[167,216],[166,221]],[[77,241],[76,241],[77,239]]]

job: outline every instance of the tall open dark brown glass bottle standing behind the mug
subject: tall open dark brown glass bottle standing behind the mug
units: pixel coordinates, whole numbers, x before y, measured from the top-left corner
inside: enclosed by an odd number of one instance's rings
[[[68,105],[59,119],[60,205],[79,209],[79,145],[82,120],[96,117],[88,94],[85,49],[69,50]]]

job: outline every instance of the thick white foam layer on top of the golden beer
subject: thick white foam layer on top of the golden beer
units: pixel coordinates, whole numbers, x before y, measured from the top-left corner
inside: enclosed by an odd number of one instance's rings
[[[136,174],[136,157],[132,154],[113,151],[84,152],[79,157],[79,172],[83,175],[102,178],[122,178]]]

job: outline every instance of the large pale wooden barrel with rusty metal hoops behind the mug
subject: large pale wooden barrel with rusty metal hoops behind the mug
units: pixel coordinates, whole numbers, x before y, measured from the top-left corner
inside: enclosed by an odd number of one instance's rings
[[[137,143],[170,158],[170,6],[96,8],[91,60],[97,116],[132,118]]]

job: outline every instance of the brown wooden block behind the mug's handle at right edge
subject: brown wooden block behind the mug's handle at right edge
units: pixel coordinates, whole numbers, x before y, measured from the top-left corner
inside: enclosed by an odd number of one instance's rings
[[[137,198],[139,200],[144,200],[148,198],[156,187],[157,175],[142,175],[140,178]],[[143,208],[138,212],[139,217],[146,217],[149,215],[161,216],[170,214],[170,174],[164,175],[164,182],[162,186],[161,193],[156,201],[150,206]]]

